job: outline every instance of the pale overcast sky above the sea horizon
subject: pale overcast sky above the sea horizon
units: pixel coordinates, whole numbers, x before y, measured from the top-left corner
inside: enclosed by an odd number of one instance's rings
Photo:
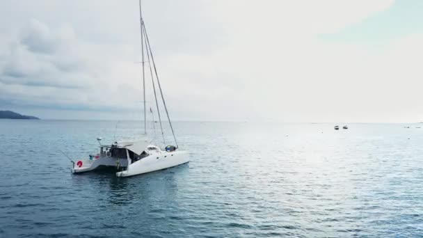
[[[174,120],[423,121],[422,12],[419,0],[143,0]],[[0,1],[0,110],[141,120],[138,14],[137,0]]]

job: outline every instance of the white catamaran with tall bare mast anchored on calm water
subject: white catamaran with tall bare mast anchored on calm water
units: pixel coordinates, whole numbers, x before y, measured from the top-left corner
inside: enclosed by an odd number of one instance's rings
[[[102,167],[116,167],[118,177],[128,177],[132,175],[140,175],[143,173],[161,170],[185,164],[189,162],[189,154],[186,151],[178,149],[175,132],[173,131],[172,122],[170,121],[166,102],[164,100],[163,91],[161,90],[157,68],[154,63],[152,50],[150,47],[150,40],[148,39],[147,31],[143,21],[141,12],[141,0],[139,2],[140,19],[141,19],[141,58],[143,67],[143,97],[144,97],[144,132],[147,132],[147,118],[146,118],[146,104],[145,104],[145,63],[150,68],[150,75],[152,81],[152,89],[154,92],[155,106],[157,107],[157,114],[159,116],[159,124],[161,129],[161,136],[163,143],[166,145],[163,126],[161,123],[161,116],[159,110],[159,101],[163,102],[163,108],[166,111],[166,116],[169,122],[170,130],[175,140],[174,145],[168,145],[164,150],[157,145],[151,145],[151,141],[143,139],[140,141],[131,142],[115,142],[112,145],[102,145],[102,138],[97,138],[99,141],[99,154],[91,156],[89,159],[83,159],[73,163],[72,173],[85,173],[88,171],[97,170]],[[147,61],[144,61],[145,54],[147,54]],[[156,91],[156,85],[159,87]],[[158,98],[157,94],[161,97]],[[151,110],[151,109],[150,109]],[[154,123],[153,119],[153,123]],[[153,124],[154,125],[154,124]]]

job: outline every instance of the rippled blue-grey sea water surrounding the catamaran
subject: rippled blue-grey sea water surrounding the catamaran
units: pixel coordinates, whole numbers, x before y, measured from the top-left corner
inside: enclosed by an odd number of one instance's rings
[[[0,237],[423,236],[418,124],[175,122],[189,164],[70,173],[141,124],[0,120]]]

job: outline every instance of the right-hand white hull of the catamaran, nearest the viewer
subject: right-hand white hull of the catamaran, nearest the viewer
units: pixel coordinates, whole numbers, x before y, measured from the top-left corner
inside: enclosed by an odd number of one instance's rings
[[[143,173],[171,168],[188,162],[189,154],[186,151],[157,152],[130,164],[127,170],[116,173],[116,176],[129,177],[141,175]]]

